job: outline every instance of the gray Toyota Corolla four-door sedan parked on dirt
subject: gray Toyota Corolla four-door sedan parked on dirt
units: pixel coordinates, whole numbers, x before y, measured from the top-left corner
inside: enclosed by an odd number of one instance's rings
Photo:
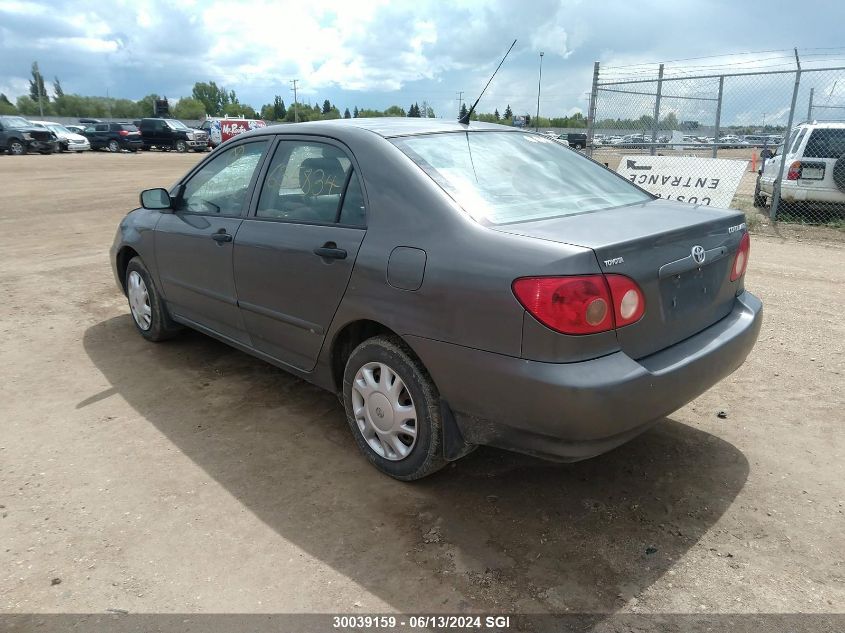
[[[608,451],[760,329],[742,213],[656,199],[514,128],[268,127],[141,204],[112,248],[141,336],[188,326],[340,394],[397,479],[479,444]]]

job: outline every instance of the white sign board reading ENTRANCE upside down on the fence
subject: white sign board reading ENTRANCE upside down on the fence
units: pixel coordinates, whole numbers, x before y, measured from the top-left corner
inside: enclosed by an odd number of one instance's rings
[[[631,182],[666,200],[729,207],[748,161],[695,156],[623,156],[616,168]]]

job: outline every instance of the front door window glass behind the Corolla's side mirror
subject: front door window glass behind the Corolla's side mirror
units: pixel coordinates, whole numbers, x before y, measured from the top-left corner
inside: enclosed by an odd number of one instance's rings
[[[221,152],[194,174],[182,192],[180,211],[239,216],[249,184],[269,141],[243,143]]]

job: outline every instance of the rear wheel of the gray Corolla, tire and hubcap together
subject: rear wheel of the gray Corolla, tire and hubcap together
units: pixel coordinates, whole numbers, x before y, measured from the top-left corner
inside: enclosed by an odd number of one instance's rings
[[[401,339],[376,336],[352,351],[343,404],[358,448],[386,475],[412,481],[446,465],[437,387]]]

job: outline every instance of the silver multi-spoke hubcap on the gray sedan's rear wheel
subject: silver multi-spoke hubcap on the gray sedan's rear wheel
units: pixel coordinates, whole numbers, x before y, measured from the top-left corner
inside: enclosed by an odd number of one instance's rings
[[[417,410],[408,387],[384,363],[367,363],[352,382],[358,430],[376,454],[399,461],[417,442]]]

